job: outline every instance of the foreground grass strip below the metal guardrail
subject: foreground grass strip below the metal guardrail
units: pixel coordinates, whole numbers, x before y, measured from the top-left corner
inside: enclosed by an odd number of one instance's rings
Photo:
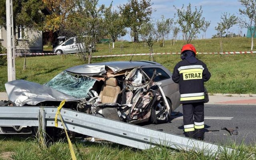
[[[68,143],[65,140],[59,140],[49,147],[42,147],[38,140],[32,138],[13,138],[1,137],[0,141],[0,159],[12,158],[15,160],[69,160],[71,155]],[[73,141],[73,147],[77,159],[97,159],[97,160],[248,160],[255,159],[252,155],[256,151],[255,146],[245,146],[243,144],[231,144],[236,149],[229,153],[227,150],[219,149],[219,155],[211,154],[206,150],[199,152],[174,150],[165,146],[159,146],[148,150],[139,150],[115,143],[93,143]],[[216,157],[217,156],[217,157]]]

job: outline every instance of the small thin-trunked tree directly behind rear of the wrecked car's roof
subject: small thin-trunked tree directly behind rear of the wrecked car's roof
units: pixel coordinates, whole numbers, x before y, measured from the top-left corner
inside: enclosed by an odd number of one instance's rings
[[[150,22],[148,23],[142,23],[140,34],[142,40],[146,43],[150,53],[153,53],[153,45],[156,42],[156,31],[154,29],[154,25]],[[151,61],[152,61],[152,55],[151,55]]]

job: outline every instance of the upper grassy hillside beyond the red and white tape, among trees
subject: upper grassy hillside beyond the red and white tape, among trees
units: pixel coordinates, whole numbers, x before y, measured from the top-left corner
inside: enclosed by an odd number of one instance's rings
[[[200,39],[191,41],[196,47],[197,51],[203,52],[220,52],[220,38],[215,39]],[[173,43],[173,42],[172,42]],[[223,51],[249,51],[251,49],[251,39],[250,38],[222,38]],[[129,53],[149,53],[149,49],[145,45],[133,42],[123,42],[124,50],[120,50],[120,45],[122,42],[115,43],[115,48],[112,53],[109,53],[108,44],[98,44],[98,52],[95,55],[111,55],[111,54],[129,54]],[[165,46],[160,47],[159,43],[154,44],[154,53],[163,52],[180,52],[181,47],[184,45],[182,40],[176,41],[175,45],[171,44],[171,41],[165,41]],[[254,51],[256,51],[256,40],[254,40]]]

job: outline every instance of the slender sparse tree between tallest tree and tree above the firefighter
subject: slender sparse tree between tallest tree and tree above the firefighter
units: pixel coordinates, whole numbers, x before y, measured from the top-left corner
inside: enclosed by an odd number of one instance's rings
[[[164,39],[165,37],[170,33],[171,28],[172,28],[172,23],[173,23],[173,19],[168,18],[168,19],[164,19],[164,16],[161,16],[161,21],[157,20],[157,30],[156,33],[158,35],[158,38],[160,38],[161,42],[163,43],[164,47]]]

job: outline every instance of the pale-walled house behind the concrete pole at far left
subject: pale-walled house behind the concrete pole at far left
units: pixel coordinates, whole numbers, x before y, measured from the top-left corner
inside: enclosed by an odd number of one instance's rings
[[[48,8],[41,10],[45,15],[51,14]],[[42,31],[36,31],[22,26],[15,29],[16,32],[16,50],[17,53],[42,53],[43,38]],[[0,26],[0,43],[7,47],[7,32]]]

